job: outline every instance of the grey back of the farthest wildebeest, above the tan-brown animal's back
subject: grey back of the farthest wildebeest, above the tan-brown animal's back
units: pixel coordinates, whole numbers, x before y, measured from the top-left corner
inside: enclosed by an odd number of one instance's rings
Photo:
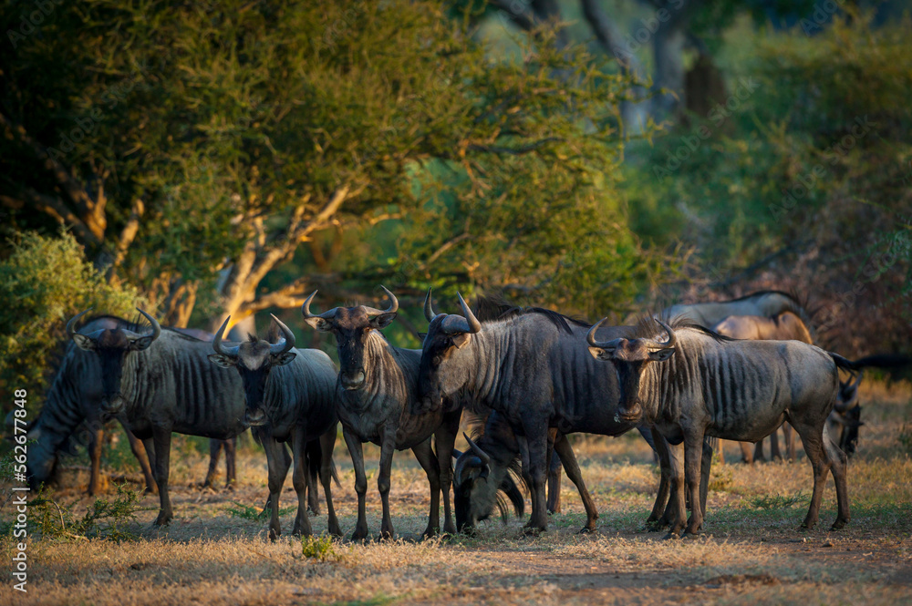
[[[760,315],[772,317],[782,312],[792,312],[810,326],[808,313],[792,294],[782,291],[758,291],[731,301],[678,304],[668,307],[660,317],[687,320],[712,328],[730,315]]]

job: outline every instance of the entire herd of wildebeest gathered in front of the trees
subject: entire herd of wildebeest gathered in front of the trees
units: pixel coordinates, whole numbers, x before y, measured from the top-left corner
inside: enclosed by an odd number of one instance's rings
[[[298,496],[293,532],[311,533],[307,507],[318,508],[318,479],[329,532],[341,535],[331,489],[341,422],[358,494],[352,539],[369,535],[362,454],[368,441],[380,447],[381,538],[394,536],[393,451],[407,448],[430,486],[425,536],[472,531],[507,502],[522,514],[517,477],[531,494],[526,529],[546,529],[547,511],[559,507],[554,478],[561,466],[586,508],[583,530],[591,531],[598,513],[567,435],[618,436],[637,428],[655,450],[661,472],[648,525],[668,528],[668,536],[695,535],[720,438],[759,446],[784,423],[801,437],[814,472],[803,527],[817,522],[830,470],[838,504],[833,528],[849,521],[846,455],[861,425],[861,368],[896,360],[871,356],[853,362],[814,346],[807,315],[789,294],[763,291],[723,303],[675,305],[637,325],[606,326],[604,319],[589,325],[541,308],[476,314],[461,295],[461,313],[435,313],[429,291],[428,332],[422,348],[411,350],[390,345],[382,334],[399,310],[396,296],[383,291],[386,309],[357,305],[313,313],[316,292],[306,299],[304,323],[336,337],[338,371],[325,353],[295,348],[294,333],[275,316],[268,340],[250,335],[229,343],[230,318],[210,338],[162,328],[141,310],[150,331],[109,316],[77,330],[88,311],[79,313],[67,323],[72,343],[29,430],[35,440],[30,481],[37,485],[50,477],[57,454],[80,424],[100,428],[113,417],[128,430],[147,488],[158,490],[156,524],[167,524],[173,517],[171,432],[211,438],[214,457],[223,444],[214,440],[227,440],[230,455],[233,438],[250,427],[268,467],[270,537],[281,533],[279,496],[292,465]],[[466,436],[469,447],[459,452],[454,444],[464,411],[477,427],[474,439]],[[94,491],[100,440],[94,429],[89,436]],[[793,458],[790,437],[786,450]],[[745,457],[750,459],[750,450]]]

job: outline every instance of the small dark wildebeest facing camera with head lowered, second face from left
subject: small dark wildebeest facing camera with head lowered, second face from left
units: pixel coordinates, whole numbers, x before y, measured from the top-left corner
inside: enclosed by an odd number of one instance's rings
[[[231,316],[225,318],[215,334],[212,348],[215,354],[209,359],[223,368],[235,368],[244,385],[244,421],[251,426],[268,426],[271,437],[292,441],[295,467],[292,480],[297,492],[298,508],[293,534],[311,534],[306,511],[306,476],[311,466],[319,467],[323,492],[326,495],[328,528],[331,534],[341,536],[332,496],[332,456],[336,446],[338,420],[334,406],[336,367],[329,356],[318,349],[294,349],[295,334],[272,316],[282,331],[279,343],[270,344],[253,336],[249,341],[233,346],[222,343],[225,327]],[[319,441],[316,461],[309,461],[308,442]],[[269,503],[271,518],[269,536],[281,534],[279,524],[279,496],[285,481],[287,467],[275,458],[269,465]],[[313,494],[313,491],[311,492]]]

